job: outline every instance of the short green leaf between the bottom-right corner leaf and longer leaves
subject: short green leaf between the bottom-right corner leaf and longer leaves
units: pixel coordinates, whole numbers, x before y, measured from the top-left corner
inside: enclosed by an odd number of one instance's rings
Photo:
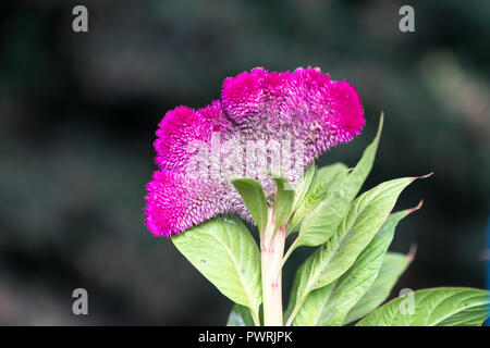
[[[344,324],[358,320],[377,309],[390,296],[400,276],[408,268],[411,260],[406,254],[388,252],[375,283],[366,295],[351,309]]]

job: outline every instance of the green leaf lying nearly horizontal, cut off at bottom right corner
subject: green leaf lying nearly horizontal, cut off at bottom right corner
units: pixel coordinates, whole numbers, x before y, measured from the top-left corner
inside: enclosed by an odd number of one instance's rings
[[[481,326],[488,318],[489,304],[486,290],[424,289],[391,300],[356,326]]]

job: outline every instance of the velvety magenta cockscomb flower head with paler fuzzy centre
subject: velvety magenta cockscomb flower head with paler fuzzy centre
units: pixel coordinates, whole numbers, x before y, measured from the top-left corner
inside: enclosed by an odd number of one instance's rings
[[[207,146],[212,152],[225,148],[230,140],[235,141],[232,150],[240,150],[247,141],[287,140],[293,150],[302,144],[299,164],[305,167],[331,147],[358,135],[364,123],[354,87],[331,80],[319,69],[272,73],[257,67],[229,77],[220,100],[199,110],[177,107],[160,122],[155,141],[159,170],[146,187],[146,225],[152,234],[169,237],[218,214],[235,213],[252,221],[229,177],[196,175],[192,159],[197,147]],[[199,146],[193,146],[196,144]],[[211,158],[217,157],[213,153]],[[258,156],[253,152],[253,161],[267,163],[268,154],[270,150]],[[218,166],[230,165],[220,154],[215,160]],[[255,177],[266,195],[274,191],[267,172],[247,175],[240,166],[241,159],[232,162],[237,176]],[[294,182],[294,177],[287,178]]]

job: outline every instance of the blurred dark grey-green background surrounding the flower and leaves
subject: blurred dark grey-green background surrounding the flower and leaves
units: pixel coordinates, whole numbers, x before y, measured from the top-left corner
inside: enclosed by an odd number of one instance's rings
[[[88,33],[72,30],[76,4]],[[399,30],[402,4],[415,33]],[[255,66],[320,66],[357,88],[367,125],[321,164],[354,165],[383,110],[366,188],[436,172],[399,202],[425,199],[391,248],[418,245],[393,296],[485,286],[489,1],[33,0],[0,17],[0,324],[225,323],[231,302],[144,226],[145,184],[164,113]],[[72,313],[77,287],[89,315]]]

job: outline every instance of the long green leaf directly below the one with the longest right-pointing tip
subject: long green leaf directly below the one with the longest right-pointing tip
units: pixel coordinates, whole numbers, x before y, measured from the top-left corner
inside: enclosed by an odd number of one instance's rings
[[[340,326],[360,298],[370,289],[393,240],[397,223],[414,209],[391,214],[348,271],[338,281],[313,290],[296,314],[302,326]]]

